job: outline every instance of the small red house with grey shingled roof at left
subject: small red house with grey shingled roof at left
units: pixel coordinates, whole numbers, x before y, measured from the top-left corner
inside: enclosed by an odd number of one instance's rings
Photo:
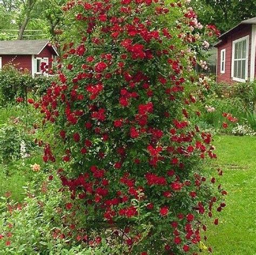
[[[13,64],[19,70],[28,70],[34,77],[42,74],[41,64],[46,63],[52,67],[52,59],[58,56],[58,52],[49,40],[14,40],[0,41],[0,70],[6,64]]]

